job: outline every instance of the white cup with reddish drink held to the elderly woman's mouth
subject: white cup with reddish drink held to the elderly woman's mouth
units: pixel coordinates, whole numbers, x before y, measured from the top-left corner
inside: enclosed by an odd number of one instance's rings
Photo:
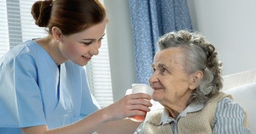
[[[144,93],[152,96],[153,92],[154,90],[146,84],[132,84],[132,89],[128,89],[126,91],[126,94]],[[142,122],[144,121],[147,112],[144,111],[144,113],[144,115],[134,115],[132,117],[129,117],[129,119],[136,122]]]

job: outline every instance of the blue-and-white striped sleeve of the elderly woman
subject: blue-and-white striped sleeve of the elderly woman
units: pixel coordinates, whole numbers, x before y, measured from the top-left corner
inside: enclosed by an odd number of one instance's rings
[[[215,117],[213,117],[213,133],[250,133],[244,127],[245,112],[235,101],[223,98],[217,104]]]

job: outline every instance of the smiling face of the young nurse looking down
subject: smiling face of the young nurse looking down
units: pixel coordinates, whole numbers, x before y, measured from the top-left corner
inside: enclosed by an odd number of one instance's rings
[[[62,36],[60,50],[63,56],[75,64],[85,66],[92,56],[98,54],[106,23],[104,20],[80,33]]]

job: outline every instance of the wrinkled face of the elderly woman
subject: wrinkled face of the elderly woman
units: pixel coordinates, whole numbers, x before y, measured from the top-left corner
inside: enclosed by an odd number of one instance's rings
[[[162,105],[177,105],[190,98],[192,76],[184,71],[183,59],[182,48],[168,48],[156,53],[152,64],[154,73],[149,80],[154,89],[153,100]]]

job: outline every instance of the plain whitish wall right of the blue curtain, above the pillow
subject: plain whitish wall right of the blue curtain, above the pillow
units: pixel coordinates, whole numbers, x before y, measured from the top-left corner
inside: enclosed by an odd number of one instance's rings
[[[215,44],[223,75],[256,68],[255,0],[188,0],[192,25]]]

